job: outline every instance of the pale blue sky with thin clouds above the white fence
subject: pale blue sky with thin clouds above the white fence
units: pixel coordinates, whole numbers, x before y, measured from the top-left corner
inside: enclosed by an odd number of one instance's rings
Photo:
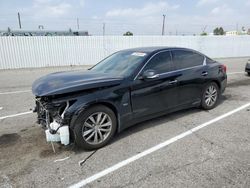
[[[0,0],[0,30],[86,30],[91,35],[210,33],[250,28],[250,0]]]

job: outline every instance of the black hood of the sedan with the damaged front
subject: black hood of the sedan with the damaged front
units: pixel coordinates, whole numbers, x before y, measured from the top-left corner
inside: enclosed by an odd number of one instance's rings
[[[97,87],[113,86],[121,83],[123,78],[93,71],[67,71],[48,74],[37,79],[32,85],[36,96],[50,96]]]

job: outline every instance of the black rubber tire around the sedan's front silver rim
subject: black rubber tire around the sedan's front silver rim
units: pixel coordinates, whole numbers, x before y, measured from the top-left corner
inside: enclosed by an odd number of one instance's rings
[[[108,116],[108,120],[111,120],[112,123],[111,123],[111,126],[109,128],[111,130],[109,131],[108,136],[102,142],[91,144],[88,141],[86,141],[86,139],[84,138],[84,130],[87,128],[87,126],[85,126],[84,124],[86,121],[89,120],[89,118],[91,116],[98,114],[100,112],[106,114]],[[96,115],[96,117],[97,117],[97,115]],[[96,106],[90,107],[89,109],[87,109],[86,111],[81,113],[75,122],[75,126],[73,129],[74,136],[75,136],[75,143],[78,147],[85,149],[85,150],[99,149],[99,148],[105,146],[106,144],[108,144],[108,142],[114,136],[114,134],[116,132],[116,128],[117,128],[116,115],[110,108],[108,108],[104,105],[96,105]],[[98,133],[94,133],[94,134],[98,134]],[[98,134],[98,137],[100,138],[99,134]]]

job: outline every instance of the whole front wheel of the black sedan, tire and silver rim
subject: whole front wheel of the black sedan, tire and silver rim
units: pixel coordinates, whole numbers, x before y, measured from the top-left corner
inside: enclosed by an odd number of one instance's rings
[[[74,126],[77,146],[93,150],[105,146],[117,127],[114,112],[103,105],[93,106],[79,115]]]

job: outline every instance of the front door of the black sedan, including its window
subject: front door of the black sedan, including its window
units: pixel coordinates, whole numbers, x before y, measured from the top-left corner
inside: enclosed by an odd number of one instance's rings
[[[143,68],[131,86],[131,101],[134,118],[153,115],[177,105],[177,80],[179,76],[172,71],[172,58],[169,51],[154,55]],[[143,79],[147,70],[154,70],[158,76]]]

